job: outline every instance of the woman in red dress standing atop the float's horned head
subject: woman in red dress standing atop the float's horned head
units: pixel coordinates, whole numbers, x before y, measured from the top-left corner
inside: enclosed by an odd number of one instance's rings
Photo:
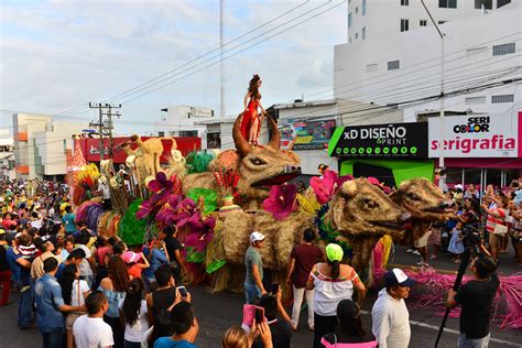
[[[250,80],[248,93],[244,96],[244,111],[241,120],[241,133],[251,144],[258,144],[259,131],[264,119],[264,109],[261,105],[261,77],[258,74],[253,75]],[[261,117],[258,112],[258,107],[261,109]]]

